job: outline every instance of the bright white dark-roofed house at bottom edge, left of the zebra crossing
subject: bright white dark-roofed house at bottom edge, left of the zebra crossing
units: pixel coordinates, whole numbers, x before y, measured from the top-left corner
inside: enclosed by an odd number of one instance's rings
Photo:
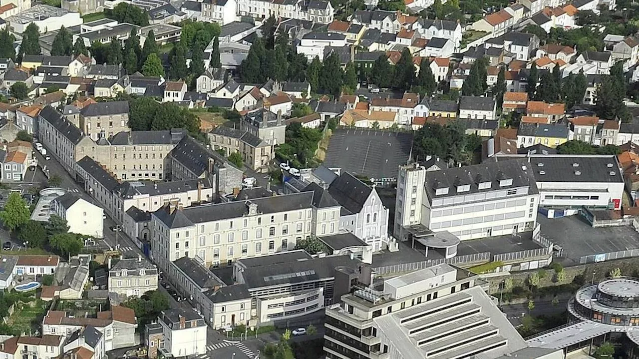
[[[194,310],[164,310],[159,316],[164,335],[164,352],[173,356],[206,354],[206,323]]]

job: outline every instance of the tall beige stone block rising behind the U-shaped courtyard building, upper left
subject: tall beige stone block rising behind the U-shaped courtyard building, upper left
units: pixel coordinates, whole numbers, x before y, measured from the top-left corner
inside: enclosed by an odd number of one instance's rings
[[[80,110],[80,123],[75,126],[93,141],[109,138],[118,132],[130,132],[128,101],[91,103]]]

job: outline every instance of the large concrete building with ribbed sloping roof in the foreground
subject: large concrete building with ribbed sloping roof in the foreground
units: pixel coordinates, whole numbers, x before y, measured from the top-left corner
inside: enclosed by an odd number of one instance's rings
[[[563,357],[528,348],[477,279],[439,264],[344,294],[326,310],[327,358]]]

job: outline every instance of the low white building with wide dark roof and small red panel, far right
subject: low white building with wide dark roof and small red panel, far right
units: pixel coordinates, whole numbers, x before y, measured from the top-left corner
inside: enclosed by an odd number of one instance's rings
[[[539,206],[551,209],[621,208],[624,178],[614,155],[495,156],[526,158],[539,190]]]

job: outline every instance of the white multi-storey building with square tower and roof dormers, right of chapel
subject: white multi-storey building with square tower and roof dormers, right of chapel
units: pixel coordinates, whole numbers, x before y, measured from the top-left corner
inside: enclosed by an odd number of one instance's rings
[[[406,227],[415,224],[460,240],[532,230],[539,205],[532,165],[525,160],[497,164],[441,171],[399,167],[394,236],[408,240]]]

